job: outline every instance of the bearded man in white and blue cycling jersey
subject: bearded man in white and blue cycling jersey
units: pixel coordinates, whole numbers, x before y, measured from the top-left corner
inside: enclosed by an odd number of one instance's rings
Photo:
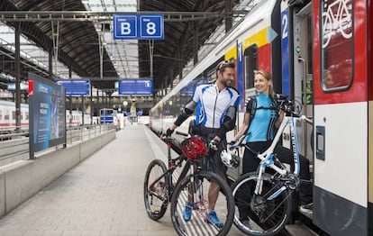
[[[234,63],[224,60],[216,67],[216,81],[212,85],[197,86],[192,100],[187,103],[167,131],[170,136],[172,132],[187,120],[187,117],[196,110],[196,121],[194,133],[204,137],[210,142],[210,148],[214,151],[207,159],[203,159],[202,168],[217,173],[226,179],[226,168],[220,159],[220,154],[226,147],[226,132],[234,128],[236,122],[237,107],[240,102],[240,95],[232,88],[234,81]],[[214,204],[219,194],[219,186],[214,182],[209,187],[209,209],[206,216],[209,222],[217,227],[223,227],[223,222],[219,220],[214,212]],[[187,222],[191,218],[192,204],[187,202],[184,211],[184,220]]]

